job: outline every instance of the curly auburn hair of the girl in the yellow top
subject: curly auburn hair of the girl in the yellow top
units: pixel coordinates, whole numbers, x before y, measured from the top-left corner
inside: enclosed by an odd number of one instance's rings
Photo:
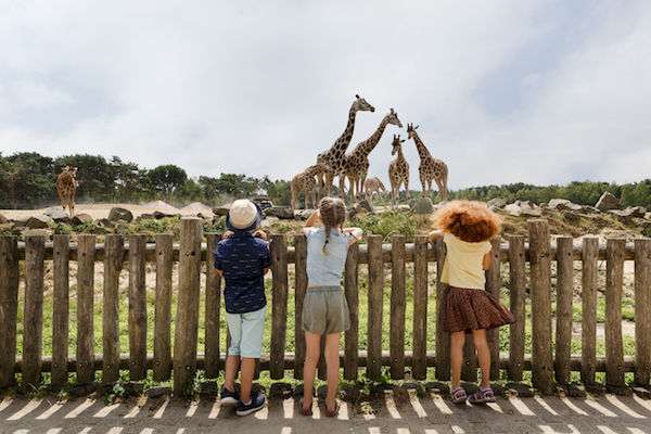
[[[448,203],[434,216],[434,225],[469,243],[492,240],[501,229],[499,216],[476,201]]]

